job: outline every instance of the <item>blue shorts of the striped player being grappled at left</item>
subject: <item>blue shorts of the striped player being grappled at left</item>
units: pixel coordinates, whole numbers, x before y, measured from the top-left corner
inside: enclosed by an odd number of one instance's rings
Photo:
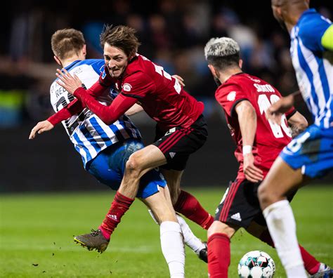
[[[145,146],[141,140],[137,139],[116,143],[100,152],[89,164],[88,171],[100,183],[110,186],[113,190],[118,190],[124,176],[127,160],[133,152],[141,150],[143,147]],[[157,193],[159,187],[165,186],[166,180],[159,170],[152,169],[141,178],[136,197],[145,199]]]

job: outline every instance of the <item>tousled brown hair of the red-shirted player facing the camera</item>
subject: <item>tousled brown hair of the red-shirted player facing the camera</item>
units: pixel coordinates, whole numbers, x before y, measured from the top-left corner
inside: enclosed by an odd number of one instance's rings
[[[100,34],[100,44],[104,48],[105,43],[107,43],[121,49],[127,56],[131,56],[138,51],[140,46],[135,33],[135,29],[124,25],[115,27],[105,25],[102,34]]]

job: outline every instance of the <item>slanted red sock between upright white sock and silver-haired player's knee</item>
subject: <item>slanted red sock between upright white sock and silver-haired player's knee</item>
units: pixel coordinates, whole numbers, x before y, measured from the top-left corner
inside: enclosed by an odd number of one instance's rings
[[[201,206],[199,201],[190,193],[183,190],[179,194],[174,209],[206,230],[214,222],[214,217]]]

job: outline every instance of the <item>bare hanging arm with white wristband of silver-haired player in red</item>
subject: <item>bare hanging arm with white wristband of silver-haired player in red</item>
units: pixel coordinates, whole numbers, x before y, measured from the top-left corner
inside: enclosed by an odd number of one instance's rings
[[[243,157],[244,157],[244,175],[247,180],[257,183],[263,180],[263,171],[254,166],[254,156],[252,146],[256,136],[256,110],[248,100],[239,102],[235,111],[237,112],[240,132],[242,133]]]

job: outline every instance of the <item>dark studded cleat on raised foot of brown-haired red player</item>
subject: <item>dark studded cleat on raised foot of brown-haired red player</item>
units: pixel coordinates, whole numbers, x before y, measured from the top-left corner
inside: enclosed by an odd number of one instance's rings
[[[82,234],[74,237],[74,241],[89,251],[96,249],[99,253],[103,253],[109,244],[109,241],[105,239],[100,229],[91,229],[90,234]]]

